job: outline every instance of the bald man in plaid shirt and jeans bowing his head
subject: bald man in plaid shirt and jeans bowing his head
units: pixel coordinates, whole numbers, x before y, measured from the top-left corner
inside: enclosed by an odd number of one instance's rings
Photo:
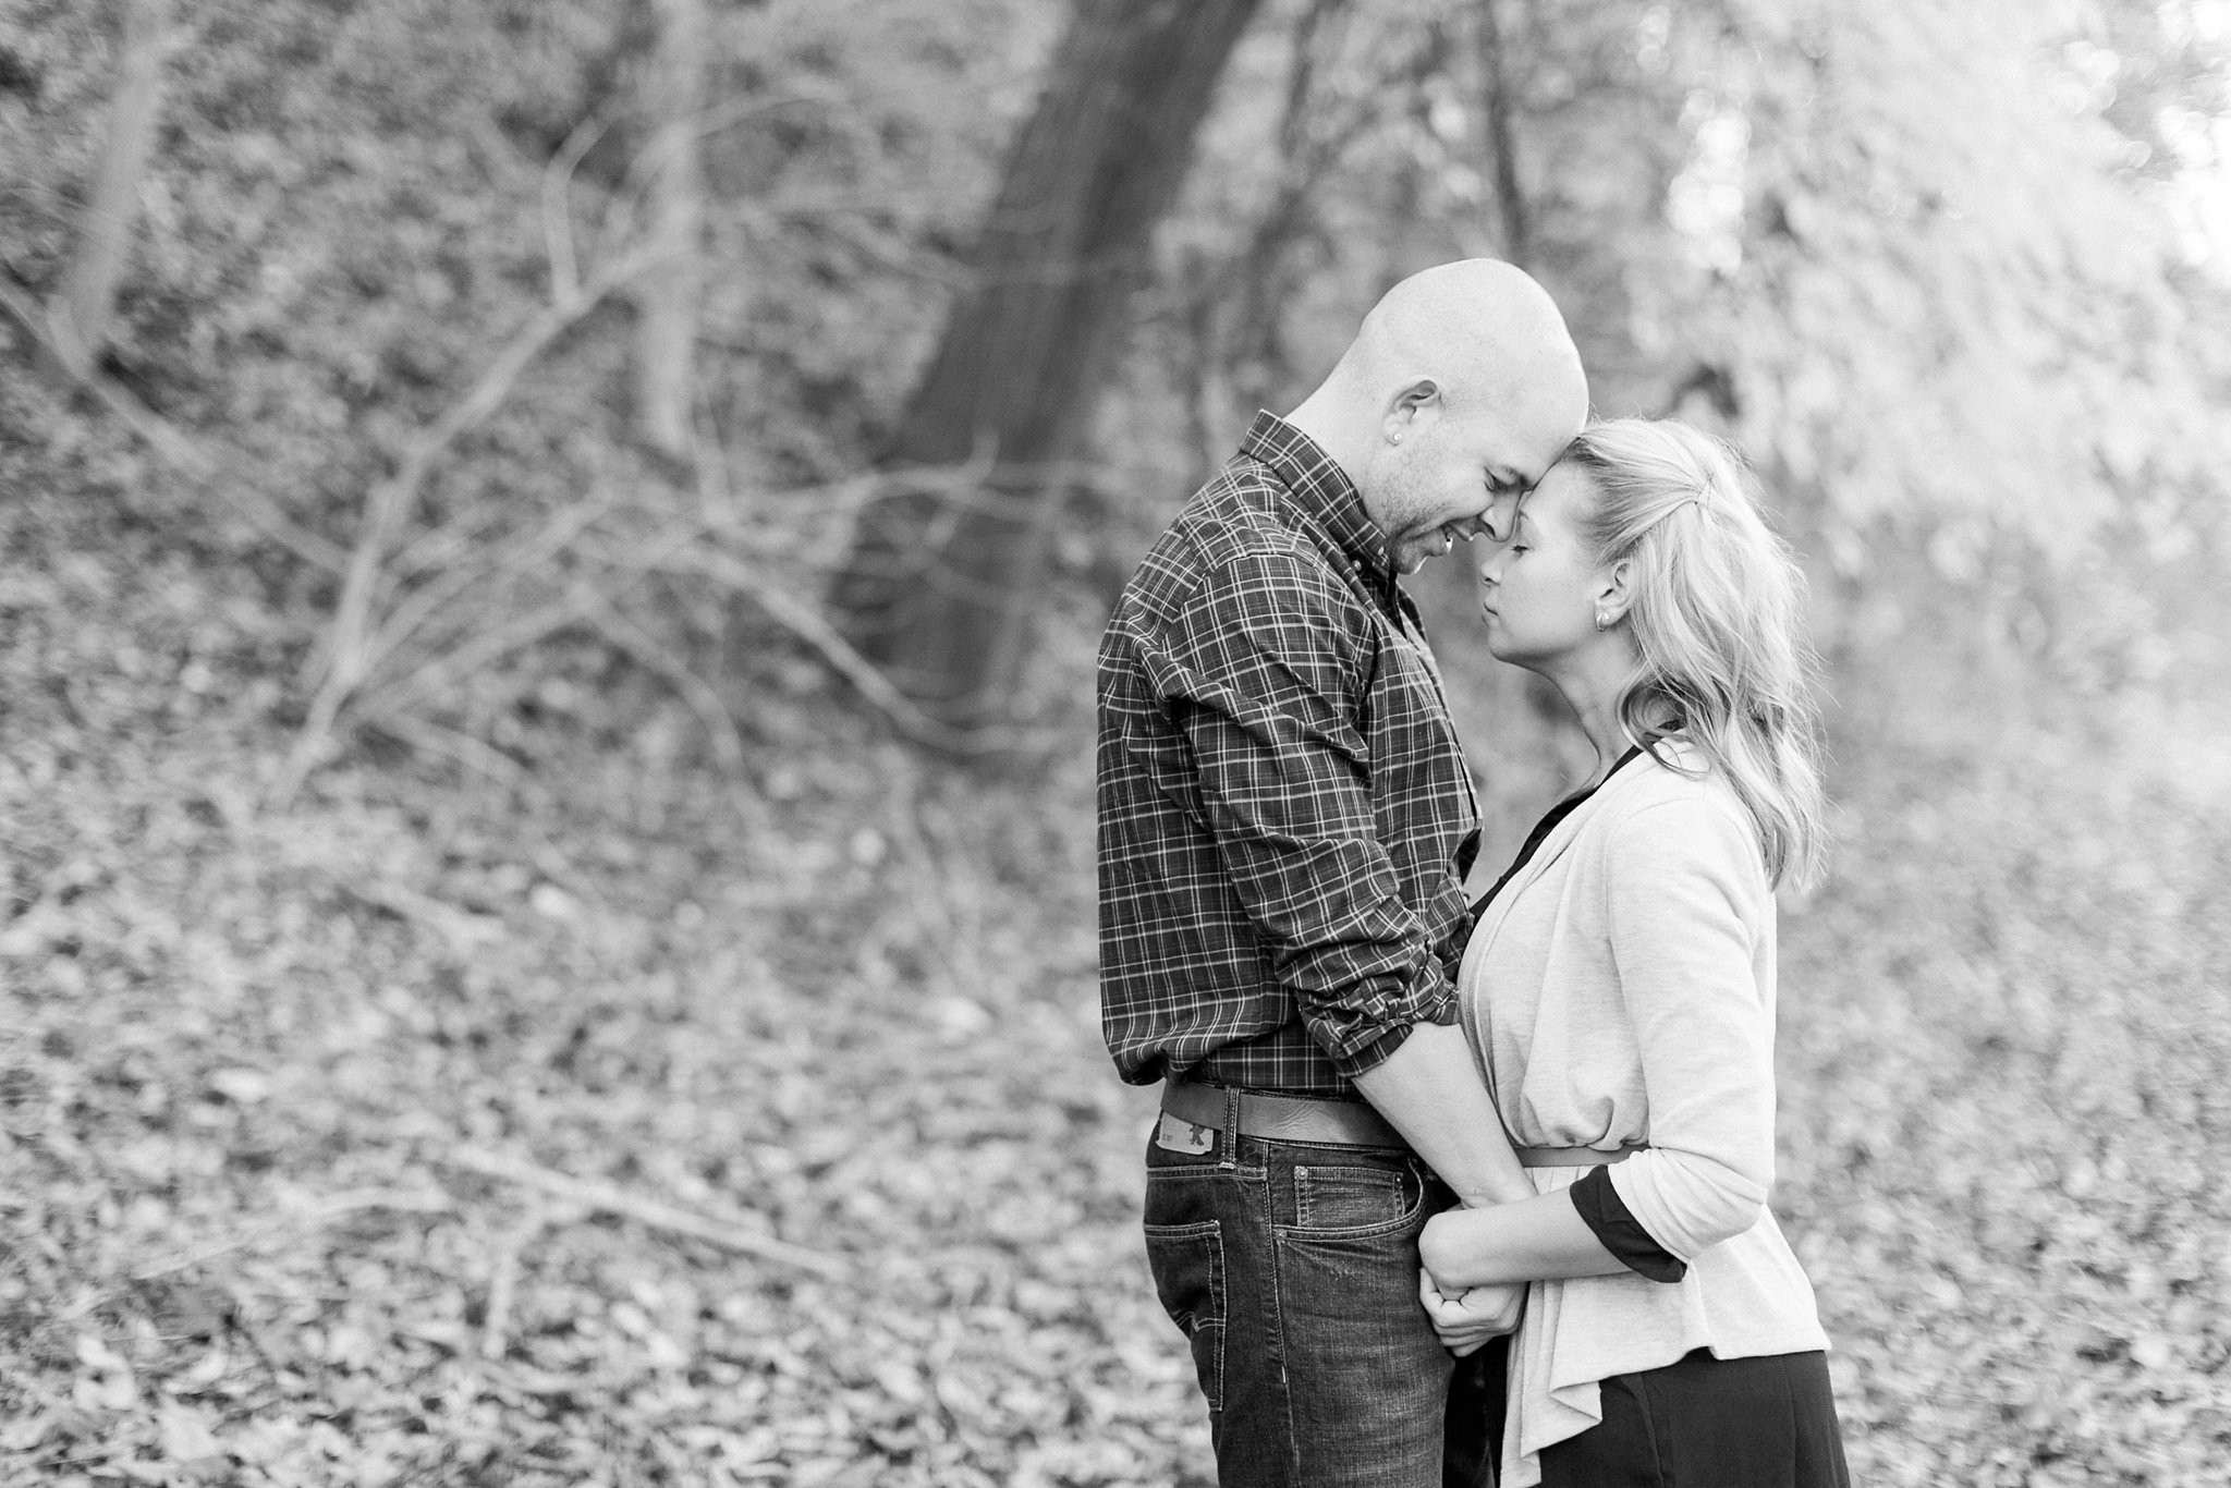
[[[1414,274],[1256,415],[1100,642],[1102,1026],[1162,1086],[1147,1254],[1223,1488],[1490,1481],[1417,1236],[1533,1187],[1457,1026],[1477,805],[1397,580],[1506,535],[1586,408],[1533,279]]]

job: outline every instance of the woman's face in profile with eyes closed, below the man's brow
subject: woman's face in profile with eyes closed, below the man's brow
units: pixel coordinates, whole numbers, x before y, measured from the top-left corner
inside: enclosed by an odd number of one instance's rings
[[[1580,533],[1595,504],[1595,480],[1575,464],[1559,464],[1519,500],[1510,542],[1479,564],[1486,591],[1488,649],[1517,667],[1553,667],[1597,642],[1595,613],[1609,569],[1595,562]]]

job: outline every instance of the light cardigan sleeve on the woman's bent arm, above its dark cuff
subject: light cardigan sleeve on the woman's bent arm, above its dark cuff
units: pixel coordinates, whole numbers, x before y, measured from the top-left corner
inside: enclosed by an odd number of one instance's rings
[[[1609,930],[1649,1149],[1609,1169],[1680,1260],[1758,1223],[1774,1187],[1774,899],[1749,825],[1709,796],[1642,808],[1609,841]]]

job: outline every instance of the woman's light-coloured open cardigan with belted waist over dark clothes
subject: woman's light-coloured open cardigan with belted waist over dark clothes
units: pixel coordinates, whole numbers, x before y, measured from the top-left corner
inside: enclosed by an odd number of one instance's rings
[[[1660,745],[1689,770],[1702,756]],[[1649,1142],[1611,1185],[1678,1283],[1537,1281],[1510,1341],[1504,1488],[1604,1419],[1597,1381],[1825,1350],[1774,1187],[1774,890],[1718,779],[1629,761],[1559,821],[1481,915],[1457,977],[1464,1028],[1519,1147]],[[1553,1194],[1586,1169],[1530,1169]]]

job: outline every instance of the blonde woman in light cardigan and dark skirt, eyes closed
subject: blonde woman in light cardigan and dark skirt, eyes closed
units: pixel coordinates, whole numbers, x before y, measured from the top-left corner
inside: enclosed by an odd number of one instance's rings
[[[1827,1336],[1767,1211],[1774,888],[1820,857],[1798,573],[1736,457],[1588,426],[1481,567],[1488,649],[1595,745],[1488,895],[1464,1024],[1524,1167],[1428,1223],[1423,1298],[1528,1283],[1504,1488],[1845,1488]],[[1493,1294],[1481,1294],[1486,1301]]]

